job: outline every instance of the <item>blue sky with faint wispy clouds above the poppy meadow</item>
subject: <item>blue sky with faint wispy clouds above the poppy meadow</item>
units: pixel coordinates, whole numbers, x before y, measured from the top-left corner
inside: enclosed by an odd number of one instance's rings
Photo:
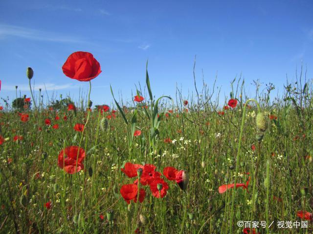
[[[34,69],[35,92],[45,84],[48,94],[79,98],[88,82],[67,78],[62,65],[75,51],[88,51],[102,73],[92,82],[91,100],[110,103],[115,95],[131,100],[134,84],[145,83],[145,65],[153,94],[175,97],[193,91],[196,76],[222,86],[228,95],[237,75],[246,80],[272,82],[283,90],[286,74],[295,77],[301,62],[313,69],[313,1],[311,0],[1,0],[0,97],[30,96],[25,71]],[[265,87],[265,85],[263,85]],[[46,97],[46,94],[44,94]],[[3,102],[2,102],[3,104]]]

